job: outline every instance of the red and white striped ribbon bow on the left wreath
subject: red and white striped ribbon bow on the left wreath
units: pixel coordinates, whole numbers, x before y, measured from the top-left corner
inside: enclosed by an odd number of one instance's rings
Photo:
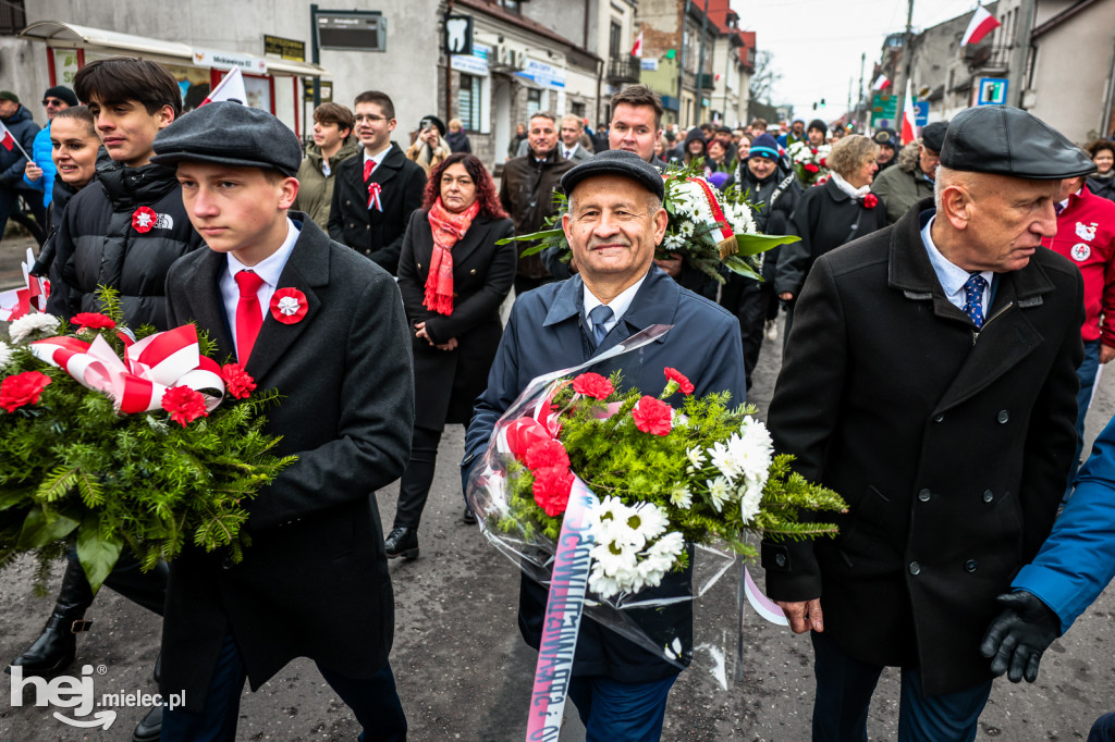
[[[201,354],[192,324],[159,332],[128,345],[120,359],[101,335],[91,343],[47,338],[30,344],[39,360],[56,365],[88,389],[104,392],[125,414],[162,408],[171,387],[190,387],[213,411],[224,399],[221,367]]]

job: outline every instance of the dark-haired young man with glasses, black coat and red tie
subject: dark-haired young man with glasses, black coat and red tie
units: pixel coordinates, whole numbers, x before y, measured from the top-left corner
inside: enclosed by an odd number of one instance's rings
[[[362,152],[337,166],[329,236],[395,275],[407,222],[421,206],[426,173],[391,141],[395,104],[386,92],[365,90],[352,111]]]

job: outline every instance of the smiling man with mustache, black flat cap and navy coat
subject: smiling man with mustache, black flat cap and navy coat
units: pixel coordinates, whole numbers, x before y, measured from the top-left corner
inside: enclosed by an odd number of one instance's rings
[[[672,367],[689,377],[698,396],[728,391],[733,404],[745,399],[736,318],[655,265],[655,248],[667,226],[658,170],[636,153],[609,149],[565,173],[562,187],[570,198],[562,227],[580,273],[515,302],[487,390],[468,426],[460,465],[465,482],[496,420],[532,379],[590,361],[652,324],[673,329],[638,353],[588,370],[605,375],[621,370],[628,389],[658,394],[662,369]],[[533,576],[550,577],[542,567]],[[650,742],[661,735],[670,686],[692,656],[690,579],[689,570],[673,573],[659,587],[632,596],[632,602],[682,598],[662,608],[626,612],[641,632],[638,643],[592,619],[581,623],[569,695],[588,739]],[[524,574],[518,625],[535,648],[545,615],[545,588]],[[662,655],[672,637],[682,645],[679,662]]]

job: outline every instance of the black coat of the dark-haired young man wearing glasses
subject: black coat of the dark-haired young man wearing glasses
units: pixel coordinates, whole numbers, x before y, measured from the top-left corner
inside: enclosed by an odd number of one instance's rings
[[[363,179],[363,152],[337,166],[333,201],[329,208],[329,236],[370,257],[395,275],[403,250],[403,233],[410,214],[421,206],[426,173],[391,143],[371,180],[380,185],[382,211],[368,207]]]

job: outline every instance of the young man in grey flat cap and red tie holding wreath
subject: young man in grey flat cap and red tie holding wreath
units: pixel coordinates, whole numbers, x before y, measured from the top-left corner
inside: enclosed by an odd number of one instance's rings
[[[279,390],[266,432],[281,436],[278,456],[298,457],[248,505],[242,562],[187,547],[171,566],[162,689],[185,691],[186,703],[166,711],[162,739],[233,740],[245,678],[255,690],[307,656],[352,709],[361,740],[405,740],[375,500],[406,466],[414,418],[398,287],[288,213],[301,148],[271,114],[209,104],[155,150],[154,162],[177,168],[209,246],[171,270],[171,323],[209,332],[254,393]]]

